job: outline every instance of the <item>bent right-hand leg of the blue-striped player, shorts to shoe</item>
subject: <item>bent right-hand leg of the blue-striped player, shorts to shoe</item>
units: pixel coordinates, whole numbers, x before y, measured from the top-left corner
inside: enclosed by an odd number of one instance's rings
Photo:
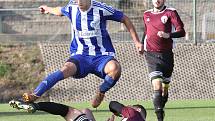
[[[98,64],[95,67],[96,75],[103,78],[104,82],[99,86],[99,90],[92,100],[94,108],[101,104],[105,93],[116,84],[121,76],[121,66],[112,56],[101,56],[97,59],[97,62]]]

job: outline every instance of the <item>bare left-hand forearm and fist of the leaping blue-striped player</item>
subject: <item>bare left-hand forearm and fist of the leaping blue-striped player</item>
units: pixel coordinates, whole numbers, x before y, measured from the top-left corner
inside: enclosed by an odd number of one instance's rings
[[[40,12],[42,14],[53,14],[56,16],[62,16],[61,7],[48,7],[46,5],[42,5],[39,7]]]

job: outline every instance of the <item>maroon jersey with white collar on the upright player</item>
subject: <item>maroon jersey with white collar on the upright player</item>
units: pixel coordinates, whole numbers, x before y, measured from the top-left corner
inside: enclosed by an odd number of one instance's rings
[[[144,12],[145,25],[144,49],[145,51],[166,52],[172,51],[172,38],[161,38],[157,35],[158,31],[171,33],[184,29],[177,11],[174,8],[165,7],[161,12],[155,13],[153,9]]]

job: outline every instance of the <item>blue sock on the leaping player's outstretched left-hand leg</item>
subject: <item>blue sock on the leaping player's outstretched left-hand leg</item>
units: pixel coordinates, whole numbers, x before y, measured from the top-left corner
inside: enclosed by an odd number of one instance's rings
[[[41,96],[51,87],[53,87],[58,81],[63,80],[63,72],[58,70],[50,75],[48,75],[34,90],[36,96]]]

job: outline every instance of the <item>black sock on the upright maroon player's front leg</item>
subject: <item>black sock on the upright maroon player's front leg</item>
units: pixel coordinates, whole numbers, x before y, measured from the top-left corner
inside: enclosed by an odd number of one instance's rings
[[[155,90],[153,95],[153,104],[155,108],[155,113],[157,115],[158,121],[163,121],[163,106],[162,106],[162,91],[161,90]]]

